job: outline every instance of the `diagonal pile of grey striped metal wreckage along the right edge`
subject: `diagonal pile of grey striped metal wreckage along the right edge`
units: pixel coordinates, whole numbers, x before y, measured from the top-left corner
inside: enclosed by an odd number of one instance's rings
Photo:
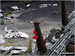
[[[45,56],[59,56],[62,52],[66,52],[67,45],[71,42],[74,44],[75,39],[75,18],[74,18],[74,11],[68,18],[70,18],[70,22],[64,27],[64,31],[62,36],[59,37],[58,41],[55,42],[53,47],[47,51]],[[71,51],[74,51],[74,47]]]

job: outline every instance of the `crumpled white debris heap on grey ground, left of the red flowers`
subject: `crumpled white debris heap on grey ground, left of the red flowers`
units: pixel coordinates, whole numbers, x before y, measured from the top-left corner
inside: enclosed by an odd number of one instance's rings
[[[12,30],[8,30],[7,27],[5,27],[6,35],[4,38],[29,38],[29,35],[25,32],[19,32],[16,28]]]

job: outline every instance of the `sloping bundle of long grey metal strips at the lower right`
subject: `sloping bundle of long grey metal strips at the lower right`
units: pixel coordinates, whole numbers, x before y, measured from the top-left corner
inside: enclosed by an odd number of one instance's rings
[[[52,56],[52,55],[61,55],[60,52],[62,52],[67,44],[70,42],[69,39],[73,35],[73,32],[75,30],[75,18],[73,18],[67,26],[65,26],[65,30],[59,41],[57,41],[52,49],[48,50],[48,52],[45,54],[45,56]]]

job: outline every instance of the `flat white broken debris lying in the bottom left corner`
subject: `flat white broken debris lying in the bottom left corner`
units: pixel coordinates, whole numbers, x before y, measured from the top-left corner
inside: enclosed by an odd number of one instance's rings
[[[28,50],[27,47],[14,47],[14,46],[4,47],[4,46],[1,46],[0,51],[2,52],[2,54],[0,56],[5,56],[9,52],[10,52],[9,56],[12,56],[13,54],[19,54],[22,52],[26,52],[27,50]]]

